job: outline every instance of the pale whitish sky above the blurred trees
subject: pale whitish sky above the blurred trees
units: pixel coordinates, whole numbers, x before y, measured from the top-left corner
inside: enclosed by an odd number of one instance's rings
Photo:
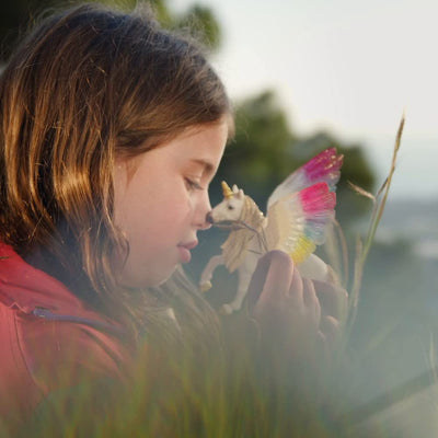
[[[198,3],[221,24],[212,61],[232,99],[275,90],[297,134],[360,142],[381,181],[405,113],[391,196],[438,203],[438,0]]]

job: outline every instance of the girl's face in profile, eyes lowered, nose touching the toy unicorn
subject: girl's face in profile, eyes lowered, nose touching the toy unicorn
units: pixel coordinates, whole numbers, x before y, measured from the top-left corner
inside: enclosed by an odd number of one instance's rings
[[[157,286],[191,260],[196,233],[207,229],[208,185],[223,154],[228,123],[187,129],[115,169],[115,222],[129,242],[119,281]],[[116,261],[116,265],[123,262]]]

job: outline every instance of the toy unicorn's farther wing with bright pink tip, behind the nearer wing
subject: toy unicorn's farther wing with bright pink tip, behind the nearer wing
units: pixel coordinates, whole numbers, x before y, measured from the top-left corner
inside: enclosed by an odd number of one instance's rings
[[[267,209],[277,200],[292,193],[300,192],[316,183],[326,183],[331,192],[335,192],[341,176],[344,157],[337,154],[335,148],[328,148],[312,158],[304,165],[291,173],[269,196]]]

